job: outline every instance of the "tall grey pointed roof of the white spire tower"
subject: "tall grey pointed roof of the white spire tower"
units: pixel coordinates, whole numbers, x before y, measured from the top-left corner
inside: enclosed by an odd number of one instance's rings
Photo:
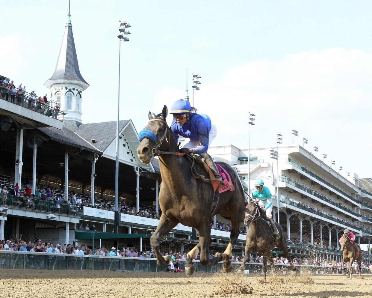
[[[50,88],[50,81],[55,80],[80,81],[84,83],[84,85],[87,85],[85,88],[89,86],[89,84],[80,74],[70,17],[65,26],[65,33],[63,35],[61,49],[60,53],[58,54],[57,65],[55,66],[54,73],[44,85]]]

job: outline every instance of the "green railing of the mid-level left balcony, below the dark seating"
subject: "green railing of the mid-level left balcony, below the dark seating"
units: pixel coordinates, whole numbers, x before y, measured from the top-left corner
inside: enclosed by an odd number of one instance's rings
[[[16,208],[38,210],[45,212],[61,213],[68,215],[78,215],[79,207],[72,204],[57,204],[51,201],[27,199],[21,196],[12,196],[10,194],[0,194],[0,204]]]

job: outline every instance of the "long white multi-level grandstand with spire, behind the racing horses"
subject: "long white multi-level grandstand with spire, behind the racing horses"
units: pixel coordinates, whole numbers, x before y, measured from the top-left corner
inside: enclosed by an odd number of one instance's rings
[[[148,250],[148,237],[161,214],[158,161],[146,165],[138,159],[135,125],[130,119],[120,121],[121,222],[119,233],[113,234],[116,122],[82,123],[83,91],[89,84],[77,61],[69,18],[55,71],[44,84],[50,88],[50,100],[38,104],[31,93],[17,89],[13,94],[6,83],[0,87],[0,240],[22,234],[22,240],[85,244],[93,251],[103,246]],[[6,79],[1,78],[1,82]],[[60,109],[53,117],[57,104]],[[255,156],[249,157],[247,150],[232,145],[212,147],[209,153],[235,166],[246,188],[249,171],[252,181],[263,178],[279,197],[279,219],[287,231],[291,254],[340,260],[337,240],[344,228],[354,231],[359,243],[370,245],[372,194],[370,188],[359,188],[357,175],[349,181],[301,146],[279,148],[276,173],[270,149],[251,149]],[[278,218],[276,202],[274,206]],[[79,229],[81,225],[89,227],[89,235]],[[214,253],[226,247],[231,227],[219,216],[211,227]],[[245,232],[241,225],[235,254],[244,252]],[[138,237],[131,235],[137,233]],[[197,242],[195,232],[179,224],[163,237],[161,249],[183,253]],[[372,262],[370,250],[363,253],[363,259]]]

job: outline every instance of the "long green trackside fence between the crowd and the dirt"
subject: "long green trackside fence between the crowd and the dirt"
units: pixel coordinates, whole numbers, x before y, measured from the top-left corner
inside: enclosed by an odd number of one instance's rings
[[[110,270],[128,272],[164,272],[168,266],[158,266],[156,259],[110,257],[110,256],[76,256],[71,254],[31,253],[21,251],[0,251],[0,269],[31,269],[31,270]],[[222,262],[216,266],[203,266],[194,261],[195,272],[222,271]],[[241,266],[232,262],[233,272]],[[331,273],[330,266],[296,265],[299,272],[321,274]],[[185,261],[179,261],[179,268],[185,271]],[[246,263],[249,274],[262,273],[262,263]],[[269,272],[271,268],[268,267]],[[289,265],[275,264],[277,272],[291,271]],[[317,272],[317,273],[316,273]],[[284,272],[283,272],[284,273]]]

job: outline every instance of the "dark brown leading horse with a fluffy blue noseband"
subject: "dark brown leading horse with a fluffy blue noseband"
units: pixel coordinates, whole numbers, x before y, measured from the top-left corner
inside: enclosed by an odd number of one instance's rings
[[[152,115],[151,112],[148,114],[150,121],[139,133],[140,145],[137,148],[138,157],[145,164],[148,164],[153,156],[159,156],[161,174],[159,205],[162,214],[157,229],[150,238],[151,246],[158,259],[157,263],[164,266],[170,261],[170,256],[164,258],[160,254],[160,237],[173,229],[177,223],[182,223],[195,228],[199,235],[198,245],[187,254],[186,275],[194,273],[195,266],[192,260],[199,251],[200,262],[203,265],[216,265],[219,261],[223,261],[222,267],[225,272],[231,272],[232,245],[239,236],[239,225],[244,219],[245,197],[239,178],[230,165],[220,163],[230,175],[235,191],[214,194],[210,183],[196,180],[191,173],[190,162],[184,157],[177,156],[180,153],[165,121],[167,114],[168,109],[165,105],[163,112],[157,116]],[[205,168],[197,163],[195,163],[195,169],[205,174]],[[212,213],[211,207],[214,200],[217,206]],[[232,229],[230,242],[224,253],[216,253],[209,259],[211,222],[215,214],[221,214],[224,218],[230,219]]]

